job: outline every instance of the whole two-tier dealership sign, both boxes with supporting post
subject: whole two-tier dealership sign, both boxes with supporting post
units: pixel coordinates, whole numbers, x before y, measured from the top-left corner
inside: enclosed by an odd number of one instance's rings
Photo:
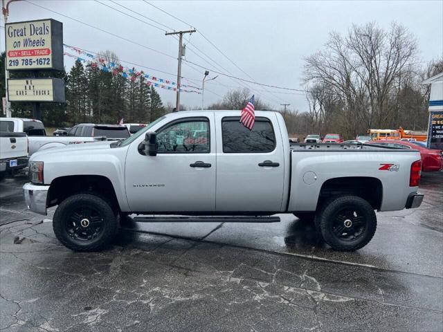
[[[40,78],[39,72],[63,71],[63,24],[54,19],[5,24],[6,70],[29,73],[29,78],[7,80],[7,98],[33,102],[33,118],[41,120],[40,102],[64,102],[64,82]]]

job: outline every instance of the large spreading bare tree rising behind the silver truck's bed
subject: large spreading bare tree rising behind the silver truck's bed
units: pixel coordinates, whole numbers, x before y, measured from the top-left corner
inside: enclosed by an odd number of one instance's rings
[[[374,23],[354,25],[345,37],[331,33],[325,50],[305,59],[305,82],[308,88],[323,84],[338,98],[332,98],[342,105],[337,116],[345,119],[345,132],[351,135],[363,127],[395,123],[392,96],[416,55],[415,38],[399,24],[389,30]]]

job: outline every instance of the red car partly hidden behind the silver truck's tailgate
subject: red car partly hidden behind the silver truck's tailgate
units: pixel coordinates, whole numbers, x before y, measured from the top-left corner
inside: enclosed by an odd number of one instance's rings
[[[383,145],[385,147],[397,147],[399,149],[414,149],[420,151],[422,157],[422,171],[435,172],[443,169],[443,151],[428,149],[415,142],[406,142],[404,140],[372,140],[366,144]]]

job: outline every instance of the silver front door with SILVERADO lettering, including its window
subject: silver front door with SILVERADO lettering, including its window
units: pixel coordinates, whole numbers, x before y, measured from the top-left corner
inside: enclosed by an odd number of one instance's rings
[[[134,212],[215,210],[215,128],[208,116],[171,120],[157,129],[159,150],[129,147],[125,184]]]

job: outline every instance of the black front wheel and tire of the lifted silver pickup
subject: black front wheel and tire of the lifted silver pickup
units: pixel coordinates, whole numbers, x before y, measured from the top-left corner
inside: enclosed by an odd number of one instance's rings
[[[100,196],[75,194],[58,205],[53,230],[71,250],[96,251],[114,239],[118,221],[109,203]]]

